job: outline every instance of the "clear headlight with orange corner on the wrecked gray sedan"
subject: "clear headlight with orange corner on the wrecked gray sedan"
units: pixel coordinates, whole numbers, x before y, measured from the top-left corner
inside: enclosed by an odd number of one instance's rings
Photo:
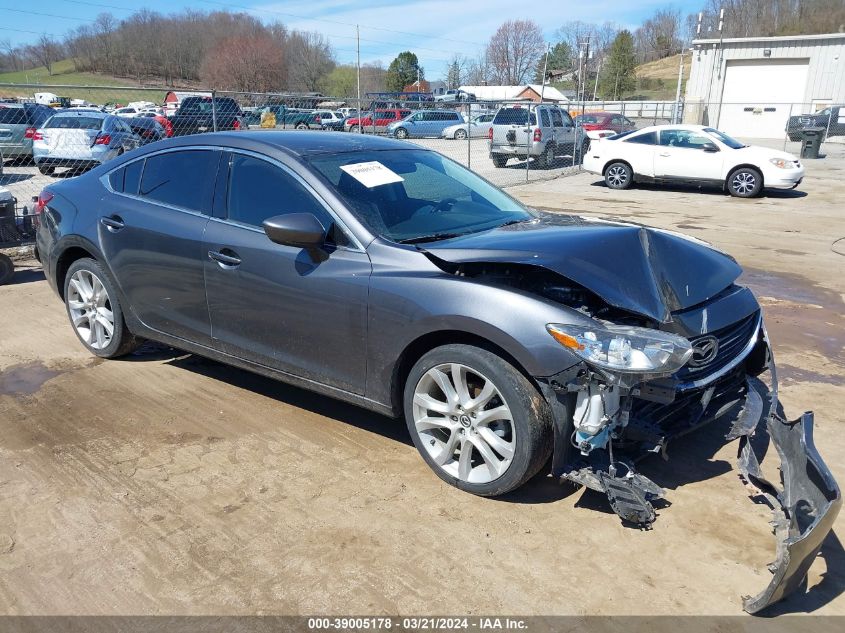
[[[687,339],[649,328],[549,323],[546,330],[591,365],[615,372],[673,374],[692,356]]]

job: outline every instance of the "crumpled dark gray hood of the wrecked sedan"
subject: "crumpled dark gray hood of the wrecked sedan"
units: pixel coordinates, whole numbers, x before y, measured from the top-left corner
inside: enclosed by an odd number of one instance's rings
[[[635,224],[544,214],[539,220],[422,245],[454,263],[541,266],[610,305],[666,323],[718,294],[742,269],[693,238]]]

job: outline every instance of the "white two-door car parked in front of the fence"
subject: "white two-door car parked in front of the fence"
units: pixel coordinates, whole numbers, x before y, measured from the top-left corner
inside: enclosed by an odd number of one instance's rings
[[[655,125],[592,140],[584,169],[611,189],[633,182],[713,184],[740,198],[763,187],[794,189],[804,166],[791,154],[745,145],[703,125]]]

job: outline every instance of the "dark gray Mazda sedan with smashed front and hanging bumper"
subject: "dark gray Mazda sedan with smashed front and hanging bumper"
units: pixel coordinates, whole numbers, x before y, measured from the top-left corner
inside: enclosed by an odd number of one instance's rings
[[[760,306],[702,242],[537,213],[437,152],[331,132],[170,139],[51,184],[38,209],[91,353],[152,339],[404,417],[474,494],[549,465],[649,525],[663,490],[635,460],[719,419],[763,486],[748,440],[767,426],[788,554],[749,611],[798,585],[836,517],[812,414],[775,408]]]

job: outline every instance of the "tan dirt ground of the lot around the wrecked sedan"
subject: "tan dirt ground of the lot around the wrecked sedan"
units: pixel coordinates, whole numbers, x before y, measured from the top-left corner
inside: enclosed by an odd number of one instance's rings
[[[511,191],[734,254],[786,410],[816,411],[845,482],[843,150],[809,163],[799,192],[751,201],[587,174]],[[34,263],[0,288],[0,324],[2,613],[739,614],[769,580],[769,513],[721,427],[644,464],[671,506],[642,532],[542,477],[505,499],[462,493],[401,422],[243,371],[155,347],[96,361]],[[809,585],[778,610],[845,614],[835,536]]]

